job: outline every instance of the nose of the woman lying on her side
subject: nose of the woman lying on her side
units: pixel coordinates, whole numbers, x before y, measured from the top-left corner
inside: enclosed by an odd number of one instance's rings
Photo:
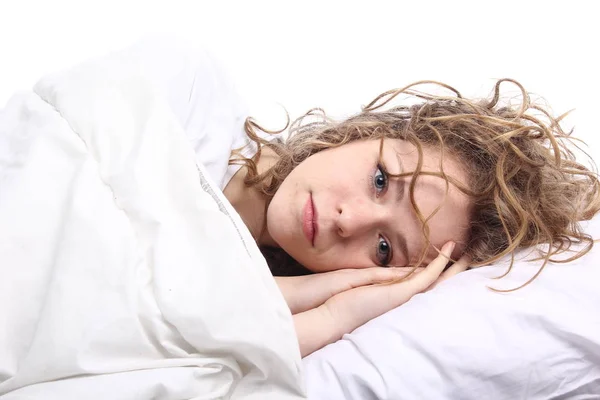
[[[385,219],[383,206],[358,201],[345,203],[338,207],[338,234],[343,238],[359,236],[377,229]]]

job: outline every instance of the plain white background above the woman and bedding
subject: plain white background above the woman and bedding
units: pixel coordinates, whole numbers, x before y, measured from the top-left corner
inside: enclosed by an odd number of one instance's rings
[[[204,43],[276,127],[334,116],[412,81],[485,96],[511,77],[600,154],[600,28],[591,1],[27,1],[0,3],[0,107],[47,72],[148,34]],[[595,8],[595,7],[594,7]],[[277,117],[277,118],[276,118]],[[596,156],[596,159],[598,157]]]

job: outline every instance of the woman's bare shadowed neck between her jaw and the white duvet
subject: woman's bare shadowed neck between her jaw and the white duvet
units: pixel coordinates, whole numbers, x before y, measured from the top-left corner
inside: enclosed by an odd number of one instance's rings
[[[266,172],[277,161],[277,154],[263,148],[261,157],[256,163],[259,174]],[[279,247],[269,235],[267,225],[268,197],[255,187],[248,187],[244,179],[248,169],[243,165],[231,178],[223,194],[244,221],[259,246]]]

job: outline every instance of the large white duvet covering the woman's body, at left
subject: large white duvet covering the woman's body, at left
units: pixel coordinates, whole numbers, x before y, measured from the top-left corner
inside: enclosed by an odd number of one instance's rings
[[[88,63],[0,113],[0,395],[303,398],[264,259],[137,72]]]

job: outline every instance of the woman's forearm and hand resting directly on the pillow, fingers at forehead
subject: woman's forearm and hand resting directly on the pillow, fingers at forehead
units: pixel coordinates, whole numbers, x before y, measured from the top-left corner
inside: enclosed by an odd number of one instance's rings
[[[340,339],[344,334],[404,303],[417,293],[428,290],[439,281],[464,271],[469,260],[462,257],[446,272],[453,243],[447,243],[441,254],[418,273],[399,282],[360,286],[338,293],[321,306],[294,316],[302,356]]]

